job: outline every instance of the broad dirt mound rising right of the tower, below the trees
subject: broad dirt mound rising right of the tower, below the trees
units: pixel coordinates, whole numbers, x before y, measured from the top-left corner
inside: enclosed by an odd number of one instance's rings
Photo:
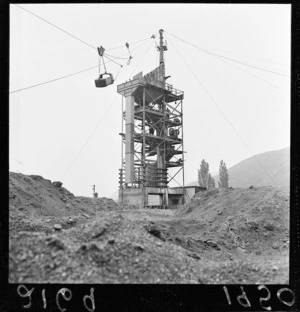
[[[194,222],[202,241],[228,250],[256,255],[288,252],[289,199],[273,187],[207,190],[175,215]]]

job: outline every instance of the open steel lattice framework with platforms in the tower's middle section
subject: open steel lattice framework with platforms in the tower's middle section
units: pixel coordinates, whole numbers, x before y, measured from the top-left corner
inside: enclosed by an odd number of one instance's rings
[[[122,148],[120,187],[167,187],[184,170],[183,92],[152,81],[136,89],[134,102],[134,181],[125,183]],[[126,120],[123,109],[122,119]],[[121,135],[126,144],[125,134]],[[170,176],[168,168],[178,171]]]

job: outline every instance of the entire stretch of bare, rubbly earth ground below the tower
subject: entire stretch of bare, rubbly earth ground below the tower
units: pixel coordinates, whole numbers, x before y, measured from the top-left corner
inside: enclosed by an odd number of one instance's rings
[[[10,283],[288,284],[289,197],[212,189],[178,210],[10,173]]]

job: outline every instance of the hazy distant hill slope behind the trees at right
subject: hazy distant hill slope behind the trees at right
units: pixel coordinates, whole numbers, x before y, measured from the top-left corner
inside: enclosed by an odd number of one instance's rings
[[[225,160],[226,162],[226,160]],[[257,154],[242,160],[228,169],[229,186],[249,187],[275,186],[289,189],[290,185],[290,148]],[[214,176],[216,181],[219,176]],[[197,185],[197,181],[190,185]]]

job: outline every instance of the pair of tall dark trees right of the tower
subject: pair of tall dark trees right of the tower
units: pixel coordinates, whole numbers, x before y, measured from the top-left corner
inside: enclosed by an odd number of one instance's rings
[[[229,175],[226,164],[223,160],[220,161],[219,165],[219,188],[228,188]],[[213,188],[216,187],[215,179],[209,172],[209,164],[202,159],[200,169],[198,169],[198,184],[202,187]]]

